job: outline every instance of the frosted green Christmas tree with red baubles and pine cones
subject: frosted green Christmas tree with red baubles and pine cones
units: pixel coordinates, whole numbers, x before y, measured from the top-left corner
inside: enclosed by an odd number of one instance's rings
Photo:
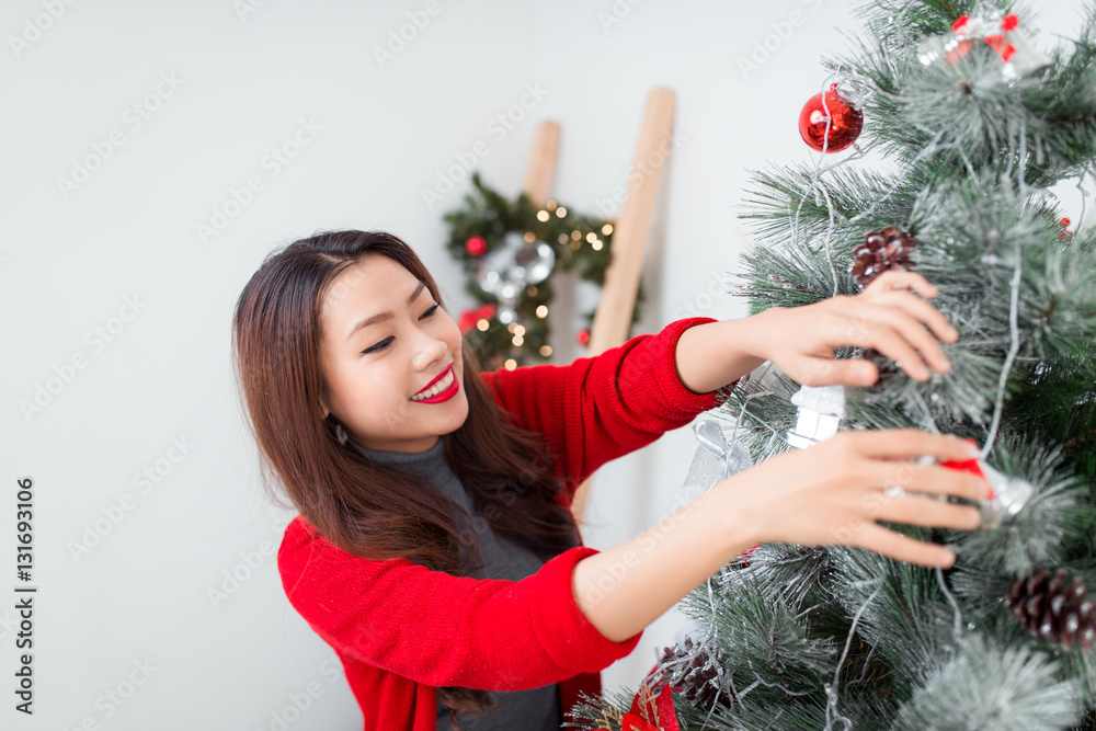
[[[879,0],[803,111],[819,162],[754,176],[752,311],[855,295],[907,269],[960,332],[951,369],[801,388],[774,367],[709,414],[754,462],[835,429],[972,441],[982,529],[933,570],[845,547],[760,546],[690,593],[695,629],[589,729],[1096,728],[1096,5],[1034,45],[1011,3]],[[832,82],[832,85],[831,85]],[[829,155],[843,150],[840,155]],[[871,158],[882,162],[869,164]],[[1065,192],[1080,194],[1076,225]]]

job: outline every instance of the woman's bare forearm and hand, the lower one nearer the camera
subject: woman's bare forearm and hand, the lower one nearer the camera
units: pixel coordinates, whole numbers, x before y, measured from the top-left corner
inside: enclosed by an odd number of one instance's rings
[[[721,566],[763,542],[859,546],[924,566],[950,566],[946,548],[905,537],[876,521],[969,530],[978,510],[935,495],[983,500],[981,479],[921,455],[967,459],[970,445],[916,430],[843,432],[718,483],[650,530],[574,566],[572,591],[602,635],[640,631]],[[899,486],[910,493],[888,495]]]

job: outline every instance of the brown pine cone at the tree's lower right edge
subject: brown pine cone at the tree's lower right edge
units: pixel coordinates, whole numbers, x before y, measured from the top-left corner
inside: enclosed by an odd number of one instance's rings
[[[1068,582],[1065,571],[1050,575],[1036,567],[1027,576],[1008,582],[1007,599],[1028,635],[1066,650],[1075,642],[1088,650],[1096,640],[1096,601],[1087,593],[1081,576]]]

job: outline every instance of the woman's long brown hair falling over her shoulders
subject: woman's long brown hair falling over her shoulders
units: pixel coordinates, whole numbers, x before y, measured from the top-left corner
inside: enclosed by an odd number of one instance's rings
[[[236,306],[233,367],[250,427],[259,446],[263,484],[293,506],[334,546],[367,559],[404,558],[454,575],[482,562],[475,536],[457,523],[461,509],[424,489],[420,477],[368,460],[340,444],[334,414],[320,409],[326,382],[320,365],[320,311],[332,279],[365,254],[395,260],[445,304],[433,277],[402,240],[379,231],[330,231],[272,252]],[[561,488],[553,455],[540,435],[507,421],[480,379],[479,364],[461,349],[468,416],[442,436],[453,471],[476,512],[496,535],[541,560],[578,545],[574,519],[555,502]],[[271,477],[276,476],[276,480]],[[461,559],[464,547],[477,567]],[[482,715],[494,708],[483,690],[438,689],[456,729],[456,711]]]

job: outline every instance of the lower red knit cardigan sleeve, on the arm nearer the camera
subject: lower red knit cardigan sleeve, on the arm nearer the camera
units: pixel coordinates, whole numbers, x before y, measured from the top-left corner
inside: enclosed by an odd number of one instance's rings
[[[298,516],[278,571],[294,608],[349,658],[435,687],[521,690],[596,672],[639,642],[606,639],[574,601],[574,564],[596,552],[572,548],[516,582],[458,578],[353,556]]]

